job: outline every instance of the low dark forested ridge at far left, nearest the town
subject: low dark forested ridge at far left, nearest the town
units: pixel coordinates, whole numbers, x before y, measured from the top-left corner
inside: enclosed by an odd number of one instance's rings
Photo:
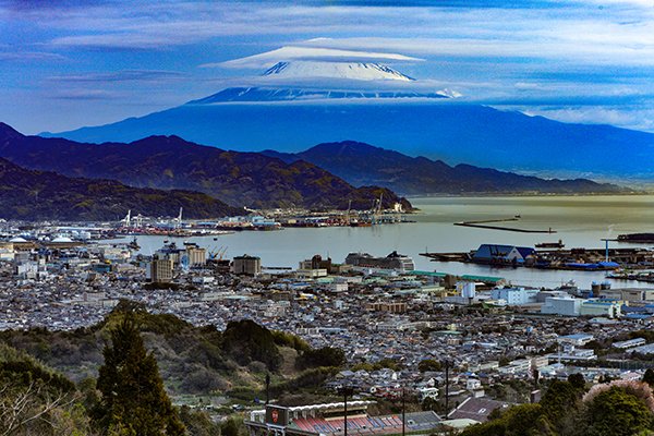
[[[243,215],[206,194],[125,186],[112,180],[73,179],[21,168],[0,158],[0,217],[24,220],[116,220],[134,215],[219,218]]]

